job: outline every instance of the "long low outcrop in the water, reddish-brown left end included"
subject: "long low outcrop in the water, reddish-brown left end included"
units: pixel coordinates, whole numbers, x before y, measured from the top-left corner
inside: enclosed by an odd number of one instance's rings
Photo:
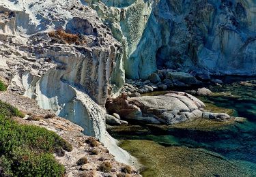
[[[116,112],[125,120],[143,123],[173,125],[196,118],[228,120],[231,116],[203,110],[205,104],[183,92],[172,92],[159,96],[128,98],[126,94],[106,101],[106,110]]]

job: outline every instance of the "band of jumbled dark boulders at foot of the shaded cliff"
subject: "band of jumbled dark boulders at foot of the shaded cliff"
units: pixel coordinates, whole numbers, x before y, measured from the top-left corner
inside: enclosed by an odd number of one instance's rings
[[[147,80],[126,79],[126,83],[119,90],[120,93],[127,93],[130,97],[137,97],[141,94],[152,93],[153,91],[167,91],[177,88],[199,88],[210,84],[221,85],[222,80],[211,78],[209,74],[187,73],[173,69],[157,70]]]

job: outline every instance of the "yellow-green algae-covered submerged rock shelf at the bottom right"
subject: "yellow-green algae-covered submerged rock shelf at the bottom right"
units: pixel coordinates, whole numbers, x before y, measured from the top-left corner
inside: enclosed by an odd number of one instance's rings
[[[165,147],[147,140],[124,140],[120,146],[145,165],[141,173],[145,177],[256,175],[253,163],[229,161],[201,148]]]

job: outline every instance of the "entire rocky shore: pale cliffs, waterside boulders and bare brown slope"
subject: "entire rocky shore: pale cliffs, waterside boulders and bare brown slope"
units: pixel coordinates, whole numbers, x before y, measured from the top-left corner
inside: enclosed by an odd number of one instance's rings
[[[8,91],[0,99],[27,114],[18,122],[46,127],[75,147],[56,157],[68,176],[139,176],[137,159],[117,146],[106,123],[239,119],[206,110],[196,96],[233,97],[204,88],[223,84],[211,74],[255,75],[253,8],[251,1],[2,0],[0,79]],[[76,164],[82,156],[88,165]],[[99,172],[102,161],[113,170]],[[130,174],[124,163],[135,166]]]

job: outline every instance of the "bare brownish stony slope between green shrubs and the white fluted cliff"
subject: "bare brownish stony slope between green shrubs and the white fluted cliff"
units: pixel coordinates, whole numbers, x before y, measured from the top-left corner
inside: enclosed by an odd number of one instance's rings
[[[25,125],[36,125],[54,131],[64,140],[72,144],[71,152],[55,153],[55,158],[66,168],[65,176],[115,176],[122,173],[122,168],[126,165],[115,161],[115,157],[109,153],[104,144],[98,142],[96,138],[91,138],[82,133],[83,128],[79,125],[53,114],[50,110],[43,110],[38,107],[33,99],[17,95],[15,93],[0,93],[0,100],[6,101],[25,113],[25,118],[14,118],[18,123]],[[53,114],[54,115],[54,114]],[[33,118],[31,118],[33,117]],[[88,140],[94,140],[94,146]],[[92,152],[96,151],[96,154]],[[82,157],[86,157],[88,163],[77,164]],[[110,162],[111,172],[100,172],[99,166],[103,162]],[[134,164],[136,165],[136,164]],[[140,176],[134,167],[131,167],[131,176]]]

